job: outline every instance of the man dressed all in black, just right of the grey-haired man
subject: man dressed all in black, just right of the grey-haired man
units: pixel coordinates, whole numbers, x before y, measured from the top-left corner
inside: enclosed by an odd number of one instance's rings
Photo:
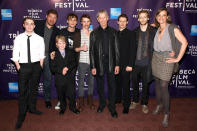
[[[119,25],[118,40],[120,51],[120,73],[116,77],[116,103],[121,103],[123,100],[123,113],[128,114],[131,103],[130,72],[126,71],[126,67],[133,67],[135,63],[135,37],[132,31],[127,29],[128,17],[126,14],[120,15],[117,23]]]

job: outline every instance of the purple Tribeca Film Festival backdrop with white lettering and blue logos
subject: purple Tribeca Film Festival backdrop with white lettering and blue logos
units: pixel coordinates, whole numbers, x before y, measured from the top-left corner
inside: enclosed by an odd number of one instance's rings
[[[53,8],[59,13],[56,26],[62,29],[66,27],[68,13],[74,12],[78,17],[88,13],[92,18],[91,29],[94,29],[98,26],[96,20],[98,10],[105,9],[109,13],[110,26],[118,29],[117,17],[125,13],[129,16],[128,28],[132,30],[139,25],[138,11],[142,9],[150,11],[150,23],[153,23],[155,13],[161,7],[166,7],[170,11],[173,23],[179,25],[189,43],[181,61],[180,71],[172,77],[171,96],[197,97],[197,0],[1,0],[0,99],[13,99],[18,96],[17,71],[10,58],[13,40],[18,34],[24,32],[23,18],[31,16],[34,19],[45,19],[46,11]],[[77,27],[81,28],[79,21]],[[76,76],[76,87],[77,79]],[[87,88],[88,85],[85,82],[84,89],[87,90]],[[39,96],[42,97],[44,92],[42,77],[38,91]],[[96,90],[94,95],[97,95]],[[54,85],[52,96],[57,97]],[[150,86],[150,96],[154,96],[154,82]]]

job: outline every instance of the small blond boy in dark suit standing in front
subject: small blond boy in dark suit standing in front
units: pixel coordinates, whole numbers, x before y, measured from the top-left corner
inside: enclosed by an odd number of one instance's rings
[[[53,73],[55,73],[55,86],[58,92],[58,98],[60,101],[60,112],[64,114],[66,110],[66,95],[68,96],[70,103],[69,109],[75,114],[79,114],[80,111],[76,109],[75,102],[75,87],[70,82],[72,70],[76,68],[77,64],[73,57],[73,52],[66,48],[66,38],[64,36],[56,37],[56,46],[58,50],[55,52],[55,56],[51,53],[50,67]]]

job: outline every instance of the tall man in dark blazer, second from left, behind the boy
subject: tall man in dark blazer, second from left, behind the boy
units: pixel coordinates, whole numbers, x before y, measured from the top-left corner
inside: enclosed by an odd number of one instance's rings
[[[35,33],[44,38],[45,56],[43,67],[43,86],[44,99],[47,108],[51,108],[51,79],[52,74],[49,68],[49,54],[56,49],[55,37],[59,34],[59,29],[55,26],[58,13],[54,9],[47,11],[46,20],[38,20],[35,22]]]

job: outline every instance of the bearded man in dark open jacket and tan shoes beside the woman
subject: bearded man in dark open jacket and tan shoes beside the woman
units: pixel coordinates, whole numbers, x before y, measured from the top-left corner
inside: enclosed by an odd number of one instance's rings
[[[147,114],[149,99],[149,84],[152,81],[151,61],[153,54],[153,43],[156,29],[148,24],[149,12],[142,10],[138,12],[139,27],[135,32],[135,43],[137,45],[135,64],[132,69],[133,102],[130,109],[139,105],[139,82],[142,81],[142,112]]]

